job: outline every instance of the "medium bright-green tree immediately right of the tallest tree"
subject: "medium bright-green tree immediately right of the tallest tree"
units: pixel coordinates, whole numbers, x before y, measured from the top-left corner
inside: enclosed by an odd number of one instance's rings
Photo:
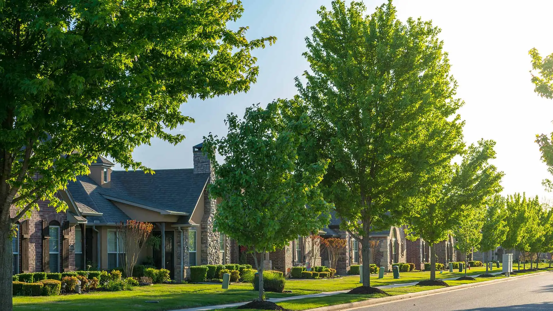
[[[436,279],[434,246],[447,239],[467,214],[483,206],[486,198],[501,191],[503,172],[497,172],[489,160],[495,158],[495,142],[484,140],[471,144],[461,164],[442,165],[435,170],[421,195],[411,200],[406,215],[409,239],[424,239],[430,245],[430,279]],[[425,195],[426,194],[426,195]]]

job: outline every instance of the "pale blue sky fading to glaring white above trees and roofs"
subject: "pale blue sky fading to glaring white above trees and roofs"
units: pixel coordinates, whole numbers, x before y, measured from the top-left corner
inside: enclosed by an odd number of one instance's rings
[[[364,1],[367,14],[383,0]],[[505,173],[504,194],[526,192],[553,198],[541,185],[549,177],[540,160],[535,135],[553,132],[553,100],[541,99],[530,82],[530,56],[535,47],[542,55],[553,53],[551,12],[553,1],[444,1],[395,0],[398,18],[432,20],[442,29],[440,39],[449,53],[451,73],[458,82],[457,96],[465,101],[458,113],[466,121],[467,144],[494,139],[497,159],[493,164]],[[192,146],[210,132],[225,136],[223,120],[228,113],[242,116],[254,103],[263,106],[273,99],[297,94],[294,77],[309,69],[301,56],[305,37],[326,0],[243,0],[242,18],[231,28],[248,26],[248,39],[274,35],[276,44],[255,50],[257,83],[246,94],[190,100],[181,111],[195,119],[174,132],[186,139],[173,146],[154,139],[152,146],[134,151],[134,158],[155,169],[192,167]],[[116,167],[116,169],[121,169]]]

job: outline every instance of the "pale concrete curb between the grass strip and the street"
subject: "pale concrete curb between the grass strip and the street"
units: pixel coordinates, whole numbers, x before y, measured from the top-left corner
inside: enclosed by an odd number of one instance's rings
[[[486,285],[489,285],[489,284],[502,283],[502,282],[509,282],[509,281],[513,281],[513,280],[519,279],[519,278],[538,276],[540,274],[546,274],[546,273],[551,273],[551,272],[553,272],[553,271],[536,272],[536,273],[524,274],[523,276],[512,276],[512,277],[508,277],[508,278],[492,279],[490,281],[471,283],[471,284],[462,284],[462,285],[450,286],[450,287],[444,287],[444,288],[437,288],[437,289],[430,289],[430,291],[422,291],[422,292],[409,293],[409,294],[403,294],[403,295],[397,295],[397,296],[390,296],[390,297],[383,297],[383,298],[372,298],[372,299],[367,299],[367,300],[358,301],[358,302],[335,304],[335,305],[329,305],[328,307],[320,307],[320,308],[308,309],[308,310],[304,310],[304,311],[335,311],[335,310],[356,309],[356,308],[360,308],[360,307],[369,307],[371,305],[385,304],[385,303],[395,302],[395,301],[398,301],[398,300],[404,300],[404,299],[406,300],[406,299],[418,298],[418,297],[429,296],[429,295],[434,295],[434,294],[455,292],[455,291],[460,291],[461,289],[466,289],[466,288],[486,286]]]

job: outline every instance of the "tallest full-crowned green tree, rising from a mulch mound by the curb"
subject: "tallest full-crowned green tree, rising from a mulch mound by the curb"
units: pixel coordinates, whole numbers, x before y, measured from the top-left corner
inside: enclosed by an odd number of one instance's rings
[[[429,172],[461,151],[463,123],[440,30],[400,22],[391,1],[367,17],[365,9],[337,0],[317,11],[304,53],[311,72],[296,85],[317,127],[305,157],[331,160],[325,199],[370,258],[371,231],[398,222]]]

